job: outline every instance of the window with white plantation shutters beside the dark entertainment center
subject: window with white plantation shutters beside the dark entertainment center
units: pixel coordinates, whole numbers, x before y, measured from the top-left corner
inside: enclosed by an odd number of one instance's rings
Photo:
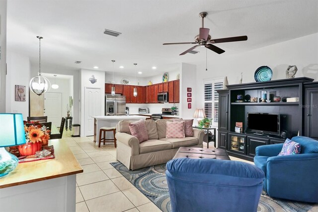
[[[208,118],[213,118],[213,124],[218,122],[219,117],[219,94],[223,89],[223,79],[204,82],[204,111]]]

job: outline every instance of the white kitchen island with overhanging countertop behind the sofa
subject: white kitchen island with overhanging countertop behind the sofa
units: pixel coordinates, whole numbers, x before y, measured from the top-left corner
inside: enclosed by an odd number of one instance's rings
[[[99,115],[99,116],[91,116],[94,118],[94,142],[99,140],[99,129],[100,127],[107,126],[107,127],[115,127],[116,124],[120,120],[140,120],[146,119],[147,116],[143,115]],[[110,136],[110,134],[108,133]],[[111,138],[112,136],[107,138]],[[98,143],[98,142],[96,142]]]

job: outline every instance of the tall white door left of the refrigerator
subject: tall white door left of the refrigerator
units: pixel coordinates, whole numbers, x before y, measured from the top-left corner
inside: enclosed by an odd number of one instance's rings
[[[85,88],[85,136],[94,135],[94,118],[101,115],[100,88]]]

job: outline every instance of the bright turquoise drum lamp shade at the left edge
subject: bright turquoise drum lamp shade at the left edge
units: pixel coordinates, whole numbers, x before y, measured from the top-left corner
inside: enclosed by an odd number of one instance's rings
[[[0,113],[0,147],[25,143],[25,131],[21,113]]]

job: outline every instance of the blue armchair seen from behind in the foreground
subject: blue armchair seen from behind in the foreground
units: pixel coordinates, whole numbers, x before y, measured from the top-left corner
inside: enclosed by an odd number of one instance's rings
[[[172,212],[256,212],[264,173],[230,160],[177,158],[166,179]]]

